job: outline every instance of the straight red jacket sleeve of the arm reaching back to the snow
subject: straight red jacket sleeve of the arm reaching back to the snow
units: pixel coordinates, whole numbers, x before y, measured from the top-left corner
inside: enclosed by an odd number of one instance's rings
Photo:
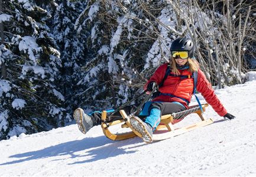
[[[210,106],[212,106],[213,110],[215,110],[215,112],[218,113],[219,116],[225,116],[225,114],[227,113],[225,107],[222,105],[221,101],[214,93],[212,85],[209,83],[205,74],[201,70],[198,70],[196,89],[202,94],[206,102],[209,103]]]

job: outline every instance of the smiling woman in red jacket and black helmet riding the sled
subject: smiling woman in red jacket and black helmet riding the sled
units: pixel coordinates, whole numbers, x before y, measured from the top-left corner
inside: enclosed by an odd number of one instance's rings
[[[154,94],[153,102],[148,107],[148,115],[144,121],[137,116],[130,119],[134,131],[141,134],[144,142],[152,141],[153,132],[160,123],[161,115],[187,109],[194,89],[193,72],[197,72],[197,91],[213,107],[213,110],[219,116],[224,116],[228,119],[235,118],[223,107],[221,101],[215,95],[211,84],[206,79],[205,74],[200,70],[199,64],[196,60],[192,59],[194,51],[193,42],[187,38],[177,38],[171,44],[170,51],[170,63],[160,65],[145,84],[145,90],[158,90],[157,94]],[[166,77],[168,67],[170,67],[170,72]],[[134,107],[126,107],[125,109],[129,114],[134,110]],[[86,133],[92,126],[101,124],[100,116],[97,112],[88,116],[83,113],[82,109],[76,109],[74,112],[74,119],[76,119],[79,129],[83,133]]]

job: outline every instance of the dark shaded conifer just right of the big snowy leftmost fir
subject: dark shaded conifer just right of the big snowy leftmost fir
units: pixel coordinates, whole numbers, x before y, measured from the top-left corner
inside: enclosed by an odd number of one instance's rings
[[[52,4],[41,5],[51,14],[47,20],[50,31],[60,51],[61,67],[57,87],[66,98],[64,107],[67,110],[65,122],[72,120],[72,112],[76,108],[73,90],[76,83],[83,77],[78,72],[85,65],[86,45],[85,38],[77,40],[74,23],[79,14],[85,9],[86,1],[54,1]]]

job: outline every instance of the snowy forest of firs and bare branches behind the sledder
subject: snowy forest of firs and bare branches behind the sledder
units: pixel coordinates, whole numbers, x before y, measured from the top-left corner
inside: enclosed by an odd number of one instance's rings
[[[133,99],[177,37],[216,89],[244,83],[255,20],[255,1],[0,0],[0,140]]]

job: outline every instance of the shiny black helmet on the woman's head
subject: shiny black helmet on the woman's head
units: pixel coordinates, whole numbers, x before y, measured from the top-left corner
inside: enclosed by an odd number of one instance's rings
[[[189,57],[192,58],[194,54],[194,43],[187,38],[177,38],[171,43],[170,51],[189,51]]]

